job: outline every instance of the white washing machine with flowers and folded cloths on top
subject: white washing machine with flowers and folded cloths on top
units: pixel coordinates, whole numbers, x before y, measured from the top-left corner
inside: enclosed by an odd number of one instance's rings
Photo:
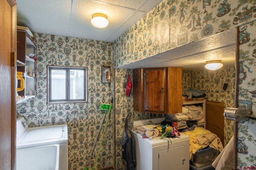
[[[137,120],[132,127],[158,124],[163,118]],[[136,170],[189,170],[189,137],[150,140],[134,132],[136,141]]]

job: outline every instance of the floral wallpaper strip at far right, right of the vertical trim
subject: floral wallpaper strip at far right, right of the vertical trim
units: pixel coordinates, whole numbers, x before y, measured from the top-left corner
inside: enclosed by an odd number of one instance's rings
[[[256,116],[256,21],[239,27],[239,92],[238,107],[250,109]],[[256,121],[238,123],[238,169],[256,168]],[[248,168],[249,167],[249,168]]]

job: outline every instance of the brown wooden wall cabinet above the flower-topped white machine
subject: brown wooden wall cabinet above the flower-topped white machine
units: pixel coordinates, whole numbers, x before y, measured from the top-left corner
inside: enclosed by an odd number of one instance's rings
[[[133,70],[134,110],[146,113],[182,111],[182,68]]]

